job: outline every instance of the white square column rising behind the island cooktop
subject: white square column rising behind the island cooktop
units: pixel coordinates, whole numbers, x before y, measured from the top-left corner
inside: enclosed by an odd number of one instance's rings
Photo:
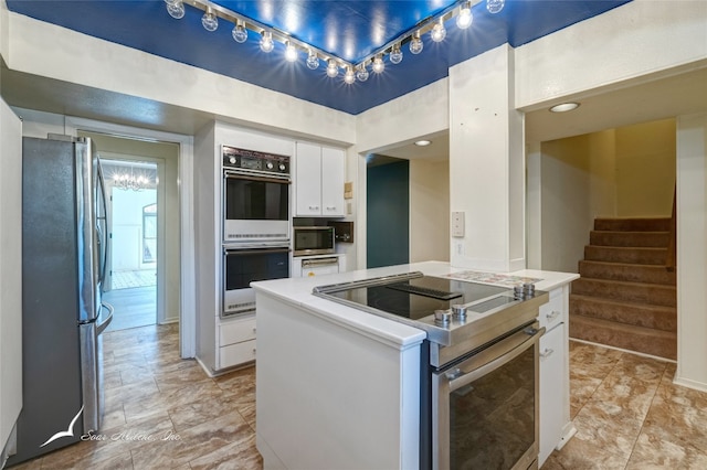
[[[450,205],[465,218],[464,236],[451,243],[455,267],[526,267],[524,120],[514,75],[508,44],[450,68]]]

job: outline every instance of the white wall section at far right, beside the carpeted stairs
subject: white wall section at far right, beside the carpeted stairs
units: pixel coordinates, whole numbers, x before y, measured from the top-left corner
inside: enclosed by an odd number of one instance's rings
[[[676,383],[707,392],[707,114],[677,118]]]

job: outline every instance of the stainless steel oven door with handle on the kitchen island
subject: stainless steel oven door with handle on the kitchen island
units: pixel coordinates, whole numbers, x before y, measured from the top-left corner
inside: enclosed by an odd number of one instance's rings
[[[537,468],[544,332],[523,327],[432,373],[434,469]]]

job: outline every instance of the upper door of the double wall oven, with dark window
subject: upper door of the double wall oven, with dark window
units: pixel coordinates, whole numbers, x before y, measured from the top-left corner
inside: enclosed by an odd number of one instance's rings
[[[289,179],[224,171],[223,241],[289,241]]]

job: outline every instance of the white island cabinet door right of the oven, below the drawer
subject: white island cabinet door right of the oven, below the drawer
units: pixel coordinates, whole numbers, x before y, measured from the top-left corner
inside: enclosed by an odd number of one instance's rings
[[[540,456],[538,463],[552,453],[564,426],[564,328],[560,323],[540,339]]]

